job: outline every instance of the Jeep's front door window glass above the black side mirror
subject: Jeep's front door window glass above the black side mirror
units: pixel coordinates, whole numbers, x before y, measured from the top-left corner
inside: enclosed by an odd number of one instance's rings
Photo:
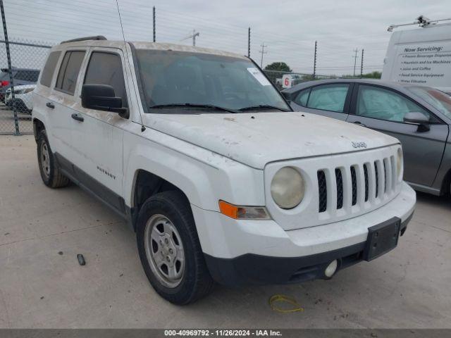
[[[122,106],[128,106],[121,56],[118,54],[94,51],[87,66],[84,83],[109,84],[116,97],[122,98]]]

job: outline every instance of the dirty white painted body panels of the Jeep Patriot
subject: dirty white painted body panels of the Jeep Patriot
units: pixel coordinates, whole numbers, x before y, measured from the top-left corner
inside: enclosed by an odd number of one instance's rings
[[[245,58],[174,44],[137,42],[135,46]],[[52,151],[123,197],[130,207],[134,206],[132,196],[139,170],[174,184],[190,201],[204,253],[221,258],[245,253],[282,257],[320,253],[362,242],[368,227],[394,216],[405,220],[413,211],[414,192],[399,180],[393,193],[380,203],[359,201],[358,210],[349,206],[349,211],[333,211],[327,217],[318,212],[317,170],[333,170],[338,165],[349,169],[384,151],[388,154],[384,157],[393,156],[400,146],[393,137],[302,112],[144,113],[129,46],[124,42],[83,41],[52,50],[65,49],[87,50],[75,94],[39,84],[35,93],[33,118],[46,125]],[[81,106],[81,79],[89,53],[95,49],[113,49],[121,54],[129,119]],[[46,108],[49,100],[55,109]],[[85,121],[74,120],[72,113],[81,113]],[[363,143],[366,149],[354,147]],[[269,193],[274,173],[285,165],[304,173],[308,189],[304,201],[291,210],[274,206]],[[358,178],[362,192],[364,180],[361,174]],[[242,206],[266,206],[272,220],[226,218],[218,213],[220,199]],[[328,205],[334,202],[336,206],[336,201],[328,197]]]

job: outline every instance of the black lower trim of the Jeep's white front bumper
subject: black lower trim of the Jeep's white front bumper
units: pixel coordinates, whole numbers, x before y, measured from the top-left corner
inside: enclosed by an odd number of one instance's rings
[[[404,234],[412,215],[402,222]],[[216,258],[204,253],[211,277],[229,287],[264,284],[291,284],[325,278],[324,270],[334,259],[338,269],[347,268],[364,259],[366,242],[345,248],[302,257],[272,257],[247,253],[235,258]]]

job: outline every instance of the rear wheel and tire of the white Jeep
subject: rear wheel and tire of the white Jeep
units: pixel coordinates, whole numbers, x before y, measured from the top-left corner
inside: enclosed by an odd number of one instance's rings
[[[41,130],[37,137],[37,163],[39,165],[39,173],[41,173],[42,182],[47,187],[59,188],[66,187],[70,180],[61,173],[55,156],[51,152],[49,140],[45,130]]]

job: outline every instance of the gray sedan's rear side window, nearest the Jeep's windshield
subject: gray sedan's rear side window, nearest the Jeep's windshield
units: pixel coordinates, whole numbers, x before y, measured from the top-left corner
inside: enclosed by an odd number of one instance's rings
[[[351,82],[319,84],[292,95],[294,111],[305,111],[345,121],[350,109]]]

